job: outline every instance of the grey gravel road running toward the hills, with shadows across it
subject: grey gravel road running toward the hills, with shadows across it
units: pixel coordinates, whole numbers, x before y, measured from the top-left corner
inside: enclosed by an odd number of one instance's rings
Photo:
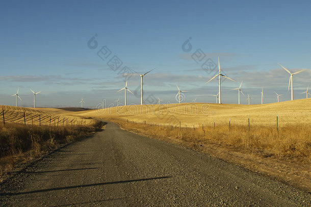
[[[310,193],[108,123],[0,186],[0,206],[310,206]]]

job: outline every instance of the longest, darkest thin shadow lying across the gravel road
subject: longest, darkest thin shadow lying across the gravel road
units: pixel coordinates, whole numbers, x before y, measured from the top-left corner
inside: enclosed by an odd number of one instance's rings
[[[17,193],[0,193],[0,195],[1,196],[24,195],[24,194],[31,194],[31,193],[41,193],[41,192],[58,191],[58,190],[66,190],[66,189],[74,189],[74,188],[85,188],[85,187],[94,187],[94,186],[102,186],[102,185],[111,185],[111,184],[117,184],[117,183],[165,179],[165,178],[170,178],[170,177],[172,177],[172,176],[151,177],[151,178],[143,178],[143,179],[135,179],[135,180],[120,180],[120,181],[113,181],[113,182],[99,182],[99,183],[94,183],[94,184],[87,184],[87,185],[80,185],[80,186],[68,186],[68,187],[60,187],[60,188],[50,188],[50,189],[42,189],[42,190],[36,190],[36,191],[17,192]]]

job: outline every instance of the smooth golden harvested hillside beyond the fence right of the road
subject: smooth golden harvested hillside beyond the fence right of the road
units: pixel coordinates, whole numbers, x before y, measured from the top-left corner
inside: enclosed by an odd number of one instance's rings
[[[129,105],[106,109],[72,112],[77,116],[113,118],[143,123],[177,125],[182,127],[201,127],[230,124],[250,126],[309,124],[311,122],[311,99],[301,99],[263,105],[212,104],[212,103],[183,103],[161,105]]]

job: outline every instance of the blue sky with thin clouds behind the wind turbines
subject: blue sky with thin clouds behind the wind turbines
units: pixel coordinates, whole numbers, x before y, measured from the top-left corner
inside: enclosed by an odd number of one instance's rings
[[[291,72],[311,68],[309,1],[0,1],[0,104],[94,108],[145,103],[214,103],[218,70],[222,103],[290,100]],[[206,63],[206,64],[204,64]],[[138,74],[135,74],[137,72]],[[133,75],[134,73],[134,75]],[[294,99],[311,70],[294,75]]]

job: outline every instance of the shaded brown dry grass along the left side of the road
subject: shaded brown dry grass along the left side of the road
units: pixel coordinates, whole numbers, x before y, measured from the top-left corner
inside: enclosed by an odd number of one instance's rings
[[[7,123],[0,125],[0,180],[16,162],[33,159],[45,152],[90,135],[102,127],[101,122],[92,126],[49,127]]]

